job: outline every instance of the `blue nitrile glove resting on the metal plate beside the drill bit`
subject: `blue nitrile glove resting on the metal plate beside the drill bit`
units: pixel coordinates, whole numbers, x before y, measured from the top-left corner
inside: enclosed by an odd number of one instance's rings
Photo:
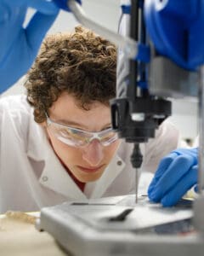
[[[178,148],[164,157],[153,177],[148,196],[150,201],[172,207],[197,183],[198,148]]]

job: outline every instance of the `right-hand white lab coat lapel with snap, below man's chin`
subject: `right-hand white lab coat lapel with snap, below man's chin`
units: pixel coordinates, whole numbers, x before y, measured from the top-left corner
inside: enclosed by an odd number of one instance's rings
[[[124,161],[116,155],[111,160],[110,165],[105,169],[102,177],[94,183],[88,183],[86,186],[86,194],[89,198],[99,198],[105,194],[105,191],[110,187],[111,183],[116,179],[118,174],[125,167]]]

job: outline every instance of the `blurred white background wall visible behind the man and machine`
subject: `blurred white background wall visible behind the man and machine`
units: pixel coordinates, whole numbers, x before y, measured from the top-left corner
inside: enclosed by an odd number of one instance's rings
[[[100,25],[117,31],[120,0],[82,0],[82,8],[85,13]],[[32,11],[29,11],[27,20],[30,19]],[[54,25],[48,33],[65,32],[73,30],[78,24],[71,13],[61,11]],[[3,96],[20,94],[24,91],[22,81],[14,84]],[[197,134],[197,108],[194,102],[173,101],[173,116],[170,118],[181,131],[182,137],[194,138]]]

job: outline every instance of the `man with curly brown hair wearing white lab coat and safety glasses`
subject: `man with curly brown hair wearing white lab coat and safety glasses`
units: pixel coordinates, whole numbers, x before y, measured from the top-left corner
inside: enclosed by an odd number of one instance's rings
[[[26,90],[28,102],[26,96],[0,101],[1,212],[134,192],[133,145],[111,130],[114,44],[81,26],[48,36]],[[164,122],[142,148],[142,169],[154,172],[177,145],[178,131]]]

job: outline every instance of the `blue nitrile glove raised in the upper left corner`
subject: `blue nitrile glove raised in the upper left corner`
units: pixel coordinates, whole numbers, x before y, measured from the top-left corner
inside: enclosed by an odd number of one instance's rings
[[[27,9],[37,12],[24,28]],[[0,93],[27,72],[59,8],[48,0],[0,0]]]

